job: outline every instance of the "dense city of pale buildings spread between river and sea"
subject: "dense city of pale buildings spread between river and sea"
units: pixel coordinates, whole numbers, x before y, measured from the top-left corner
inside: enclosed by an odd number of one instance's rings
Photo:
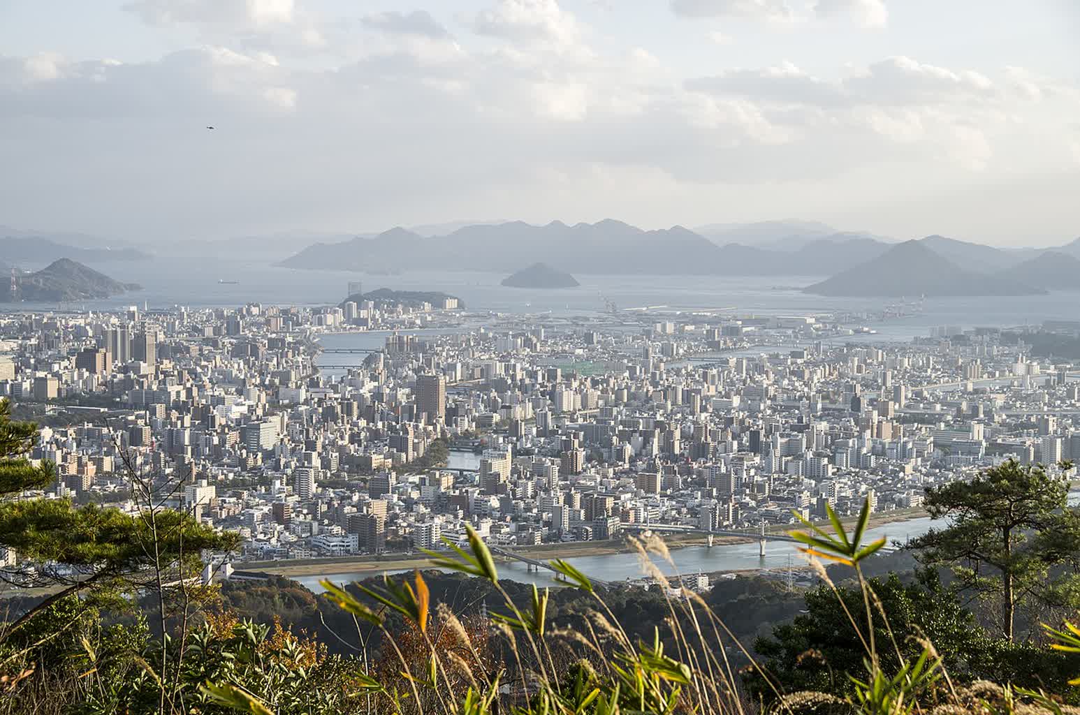
[[[464,544],[465,525],[514,553],[643,531],[753,538],[867,498],[916,516],[928,487],[1080,456],[1070,365],[1000,329],[855,342],[832,314],[568,320],[432,299],[6,313],[0,394],[46,426],[32,459],[58,474],[44,496],[135,512],[138,474],[242,535],[207,559],[217,578]],[[378,348],[320,345],[368,333]]]

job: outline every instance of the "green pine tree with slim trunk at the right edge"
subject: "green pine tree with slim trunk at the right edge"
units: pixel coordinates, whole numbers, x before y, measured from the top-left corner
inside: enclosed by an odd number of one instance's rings
[[[908,548],[923,564],[951,567],[962,588],[999,598],[1011,642],[1020,606],[1076,605],[1080,514],[1067,503],[1068,488],[1041,464],[1010,459],[971,482],[929,489],[927,511],[949,525]]]

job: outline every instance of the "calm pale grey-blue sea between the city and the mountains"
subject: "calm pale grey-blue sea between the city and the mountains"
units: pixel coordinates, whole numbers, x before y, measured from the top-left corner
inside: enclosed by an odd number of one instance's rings
[[[239,306],[264,303],[328,305],[345,298],[349,281],[361,281],[365,291],[380,287],[443,291],[460,297],[470,310],[548,312],[555,315],[602,311],[604,299],[620,308],[666,306],[669,309],[731,309],[761,314],[880,310],[891,299],[825,298],[798,287],[823,276],[707,276],[707,275],[578,275],[581,286],[558,291],[510,288],[495,273],[414,271],[401,275],[368,275],[346,271],[302,271],[275,268],[258,261],[152,259],[94,264],[93,268],[120,281],[134,281],[144,291],[105,301],[80,303],[87,309],[149,303],[150,308],[185,306]],[[220,284],[218,280],[235,281]],[[854,341],[907,340],[928,335],[935,325],[961,327],[1009,326],[1043,320],[1075,320],[1080,314],[1080,292],[1043,296],[990,296],[928,298],[920,315],[888,322],[869,322],[878,335],[847,338]],[[31,306],[25,305],[25,308]],[[45,306],[55,308],[55,306]],[[380,342],[381,345],[381,342]]]

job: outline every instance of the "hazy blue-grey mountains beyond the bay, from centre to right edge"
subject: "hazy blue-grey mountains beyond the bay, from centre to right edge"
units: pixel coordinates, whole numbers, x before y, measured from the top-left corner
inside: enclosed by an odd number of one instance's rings
[[[837,232],[823,224],[805,221],[766,221],[742,227],[714,225],[706,228],[714,240],[680,226],[646,231],[612,219],[573,226],[561,221],[544,226],[522,221],[474,225],[442,238],[424,238],[394,228],[374,238],[316,243],[280,265],[369,272],[393,268],[512,272],[522,265],[545,262],[573,273],[712,275],[835,275],[853,269],[853,278],[855,273],[886,268],[873,261],[897,245],[904,245],[866,234]],[[792,230],[801,233],[792,234]],[[715,242],[737,232],[743,235],[750,233],[772,247],[735,242],[717,245]],[[783,247],[778,247],[781,244],[777,243],[780,241],[777,237],[785,232],[796,238],[781,242]],[[1034,248],[995,248],[941,235],[927,237],[918,244],[931,254],[923,253],[919,260],[912,260],[913,265],[947,261],[943,265],[959,271],[954,274],[957,278],[954,287],[936,285],[928,279],[924,282],[927,291],[914,287],[901,291],[897,286],[900,292],[894,293],[892,288],[880,285],[877,289],[886,293],[852,295],[972,295],[972,291],[982,288],[974,287],[971,282],[966,283],[963,276],[978,279],[998,274],[1042,253]],[[1080,258],[1080,239],[1056,251]],[[918,257],[913,255],[908,258]],[[1001,276],[1000,280],[1005,285],[1010,280],[1026,285],[1018,278]],[[839,289],[837,285],[819,284],[821,289],[829,291]],[[1038,285],[1036,283],[1032,288]],[[872,287],[847,289],[867,291]],[[946,291],[959,293],[944,293]]]

